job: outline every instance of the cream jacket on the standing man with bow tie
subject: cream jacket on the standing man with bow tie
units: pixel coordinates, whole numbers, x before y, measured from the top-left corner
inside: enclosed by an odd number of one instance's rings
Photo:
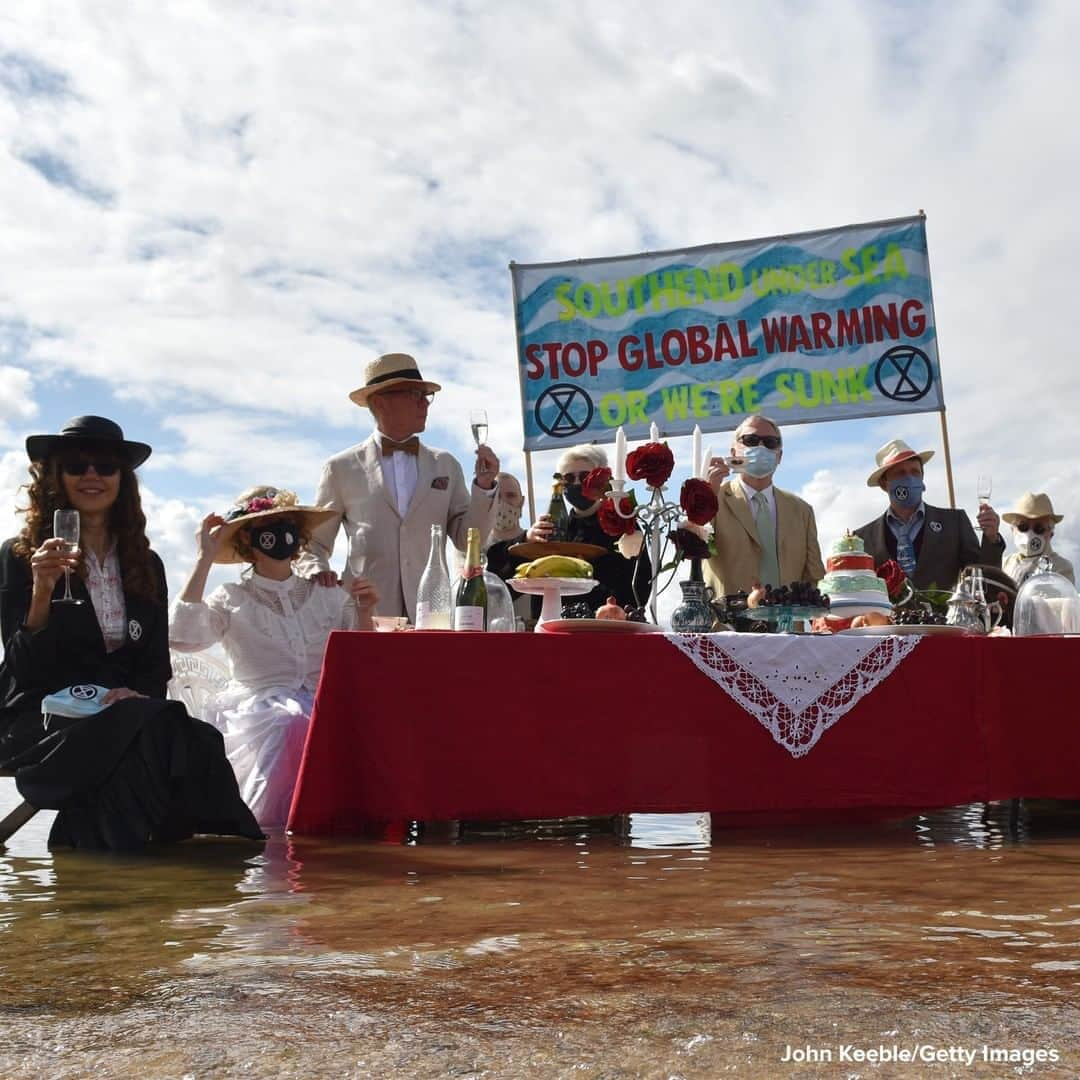
[[[375,435],[336,454],[323,467],[315,503],[337,517],[315,529],[297,572],[310,577],[330,569],[338,526],[349,550],[342,579],[369,578],[379,593],[380,615],[416,619],[416,591],[431,550],[431,526],[442,525],[459,551],[470,527],[486,537],[494,518],[495,490],[467,485],[461,465],[446,450],[423,444],[417,455],[417,481],[404,517],[382,481],[380,447]]]

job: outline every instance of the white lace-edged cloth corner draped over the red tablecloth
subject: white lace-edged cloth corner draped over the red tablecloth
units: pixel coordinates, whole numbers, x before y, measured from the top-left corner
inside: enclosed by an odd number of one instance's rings
[[[922,640],[797,634],[665,634],[793,757],[802,757]]]

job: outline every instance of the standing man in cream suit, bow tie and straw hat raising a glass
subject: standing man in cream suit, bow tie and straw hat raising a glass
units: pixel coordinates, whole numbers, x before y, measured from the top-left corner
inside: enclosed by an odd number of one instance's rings
[[[499,472],[499,459],[481,446],[475,475],[467,485],[450,454],[419,441],[428,406],[441,389],[424,381],[416,361],[405,353],[388,353],[367,365],[364,386],[349,397],[372,410],[376,431],[323,467],[315,503],[334,510],[335,516],[315,529],[308,554],[298,563],[298,572],[335,584],[329,559],[342,526],[349,542],[343,581],[368,578],[379,594],[380,615],[407,615],[414,621],[431,526],[442,525],[460,551],[470,528],[486,537]]]

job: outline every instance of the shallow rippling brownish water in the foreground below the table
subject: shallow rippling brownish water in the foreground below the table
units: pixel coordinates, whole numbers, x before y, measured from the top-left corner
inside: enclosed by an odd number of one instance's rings
[[[0,789],[0,812],[10,789]],[[1080,818],[707,814],[407,845],[0,852],[0,1075],[1003,1076],[782,1063],[1054,1050],[1076,1076]],[[508,838],[508,836],[510,838]],[[821,1059],[819,1059],[821,1061]]]

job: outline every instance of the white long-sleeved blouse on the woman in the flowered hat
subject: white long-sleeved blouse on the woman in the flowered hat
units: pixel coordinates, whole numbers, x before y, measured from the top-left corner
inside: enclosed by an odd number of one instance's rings
[[[215,589],[205,603],[175,600],[168,639],[181,652],[220,642],[234,689],[314,691],[329,632],[355,624],[356,605],[342,589],[296,575],[273,581],[253,573]]]

